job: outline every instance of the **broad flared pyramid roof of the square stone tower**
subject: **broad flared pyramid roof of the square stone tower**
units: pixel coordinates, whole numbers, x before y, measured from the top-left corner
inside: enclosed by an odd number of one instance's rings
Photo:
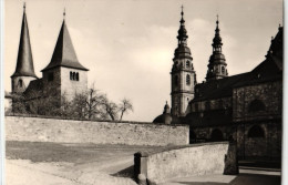
[[[65,16],[65,12],[63,13],[63,16]],[[51,62],[42,71],[55,66],[66,66],[89,71],[78,61],[76,53],[65,24],[65,19],[63,19],[63,23],[58,37]]]

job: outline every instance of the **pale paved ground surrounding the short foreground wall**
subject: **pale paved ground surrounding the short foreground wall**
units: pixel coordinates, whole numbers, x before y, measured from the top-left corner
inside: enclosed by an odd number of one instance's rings
[[[136,185],[133,154],[148,146],[7,142],[7,185]],[[238,176],[172,179],[165,185],[278,185],[280,172],[265,166]],[[259,171],[261,169],[261,171]],[[265,169],[265,171],[263,171]]]

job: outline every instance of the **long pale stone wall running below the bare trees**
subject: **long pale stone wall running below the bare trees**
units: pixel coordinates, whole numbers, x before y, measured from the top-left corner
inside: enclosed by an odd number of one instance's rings
[[[188,144],[189,127],[152,123],[115,123],[6,116],[6,140],[127,145]]]

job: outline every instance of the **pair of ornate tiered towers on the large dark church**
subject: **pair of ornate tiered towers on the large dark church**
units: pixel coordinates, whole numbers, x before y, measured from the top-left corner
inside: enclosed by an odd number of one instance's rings
[[[174,52],[173,66],[171,71],[172,82],[172,115],[185,116],[189,101],[194,99],[194,86],[196,85],[196,72],[193,68],[191,49],[187,47],[187,31],[185,29],[184,12],[181,12],[181,27],[178,30],[178,47]],[[215,37],[213,39],[213,54],[209,58],[207,82],[223,79],[228,75],[225,56],[222,53],[222,38],[219,34],[219,21],[216,21]]]

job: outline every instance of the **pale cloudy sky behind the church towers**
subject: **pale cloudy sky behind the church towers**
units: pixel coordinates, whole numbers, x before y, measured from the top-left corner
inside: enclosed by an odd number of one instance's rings
[[[52,58],[63,21],[89,86],[114,102],[130,99],[124,120],[152,122],[171,104],[171,69],[177,47],[181,6],[197,82],[205,80],[219,16],[223,53],[229,75],[251,71],[282,24],[282,0],[25,0],[34,71]],[[4,90],[11,91],[23,1],[4,1]]]

